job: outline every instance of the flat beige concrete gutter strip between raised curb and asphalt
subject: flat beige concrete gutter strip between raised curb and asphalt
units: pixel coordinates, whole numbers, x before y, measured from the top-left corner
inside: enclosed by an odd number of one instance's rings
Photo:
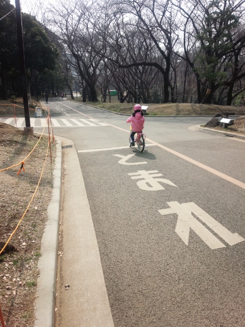
[[[71,139],[59,136],[62,149],[60,232],[57,255],[56,325],[114,327],[99,246],[80,166]],[[69,291],[64,285],[69,285]],[[42,325],[42,327],[46,325]],[[50,326],[48,326],[50,327]]]

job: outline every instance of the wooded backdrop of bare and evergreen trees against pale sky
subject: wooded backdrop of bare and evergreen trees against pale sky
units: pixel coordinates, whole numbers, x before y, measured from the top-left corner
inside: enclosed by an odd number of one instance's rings
[[[12,10],[8,0],[0,3],[1,12]],[[245,95],[244,3],[40,2],[32,16],[22,15],[30,91],[77,85],[84,102],[99,94],[110,101],[114,89],[121,103],[238,104]],[[19,92],[14,18],[0,21],[2,98]]]

